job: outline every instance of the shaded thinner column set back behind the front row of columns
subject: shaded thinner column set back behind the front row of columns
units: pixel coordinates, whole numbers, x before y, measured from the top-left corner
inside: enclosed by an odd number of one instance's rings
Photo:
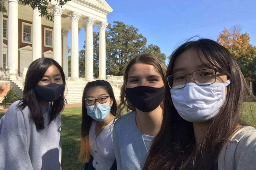
[[[62,30],[63,70],[66,77],[68,77],[68,32],[69,30]]]

